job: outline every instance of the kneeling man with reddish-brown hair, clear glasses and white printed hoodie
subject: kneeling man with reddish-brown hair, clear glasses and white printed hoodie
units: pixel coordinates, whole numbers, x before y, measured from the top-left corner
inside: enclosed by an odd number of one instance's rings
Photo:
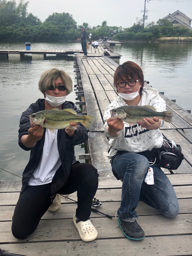
[[[126,238],[141,240],[145,234],[137,223],[139,200],[168,218],[176,217],[179,212],[174,188],[155,163],[157,148],[163,142],[159,130],[163,120],[147,117],[143,118],[144,123],[137,121],[132,125],[119,118],[112,120],[110,110],[126,105],[151,105],[161,112],[166,104],[156,89],[144,88],[142,69],[135,62],[126,61],[117,67],[114,86],[118,97],[106,108],[104,131],[109,138],[108,156],[113,174],[122,181],[121,204],[116,216]]]

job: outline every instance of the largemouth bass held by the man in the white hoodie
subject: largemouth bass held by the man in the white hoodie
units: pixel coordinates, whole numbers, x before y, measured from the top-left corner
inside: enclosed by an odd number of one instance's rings
[[[172,111],[163,111],[157,112],[154,106],[120,106],[117,109],[110,110],[112,120],[119,118],[123,122],[130,124],[137,123],[137,121],[143,122],[143,118],[149,117],[158,117],[165,122],[172,122],[173,112]]]

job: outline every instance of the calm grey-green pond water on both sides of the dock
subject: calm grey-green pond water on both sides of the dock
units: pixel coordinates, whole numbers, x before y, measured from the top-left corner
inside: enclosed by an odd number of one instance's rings
[[[170,99],[185,110],[192,110],[192,44],[150,44],[122,45],[111,47],[122,55],[120,64],[126,60],[138,63],[143,69],[144,79],[153,88],[164,92]],[[1,44],[0,49],[22,50],[23,44]],[[31,50],[80,49],[78,43],[33,43]],[[0,57],[0,167],[22,176],[29,159],[29,152],[18,144],[18,123],[20,115],[42,94],[38,91],[38,80],[42,72],[58,68],[65,70],[75,84],[73,57],[58,59],[48,56],[45,60],[32,60],[30,56],[22,60],[8,60]],[[75,102],[75,93],[67,99]],[[76,156],[83,153],[80,146],[75,147]],[[0,180],[17,180],[12,174],[0,169]]]

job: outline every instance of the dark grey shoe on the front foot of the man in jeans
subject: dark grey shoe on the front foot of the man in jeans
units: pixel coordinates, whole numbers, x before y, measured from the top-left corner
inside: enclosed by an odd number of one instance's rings
[[[144,231],[139,226],[137,221],[127,222],[118,218],[117,222],[126,238],[133,240],[141,240],[145,237]]]

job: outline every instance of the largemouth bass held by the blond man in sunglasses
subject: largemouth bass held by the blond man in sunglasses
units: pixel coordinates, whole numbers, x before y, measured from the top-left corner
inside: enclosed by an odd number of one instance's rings
[[[29,116],[31,126],[40,125],[41,127],[48,128],[51,132],[54,129],[69,128],[75,130],[74,126],[70,123],[80,122],[87,129],[90,129],[93,116],[80,116],[77,115],[73,109],[58,110],[43,110]]]

